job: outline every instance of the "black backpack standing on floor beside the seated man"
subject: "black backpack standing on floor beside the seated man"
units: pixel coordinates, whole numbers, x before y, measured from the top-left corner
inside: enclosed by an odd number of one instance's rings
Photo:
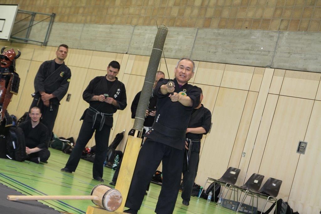
[[[27,159],[26,143],[21,128],[11,126],[7,136],[7,153],[8,156],[16,161]]]

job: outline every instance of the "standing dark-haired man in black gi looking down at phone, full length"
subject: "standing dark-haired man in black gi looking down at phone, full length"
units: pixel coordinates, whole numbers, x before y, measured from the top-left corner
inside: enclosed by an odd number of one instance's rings
[[[82,98],[89,103],[89,108],[80,118],[83,122],[76,145],[65,168],[61,171],[72,173],[76,170],[82,150],[95,132],[96,153],[92,176],[94,180],[104,182],[103,165],[107,155],[110,129],[113,126],[113,114],[117,109],[124,110],[127,106],[125,85],[116,77],[119,69],[120,64],[117,61],[111,61],[108,64],[106,76],[97,76],[92,79],[82,93]]]

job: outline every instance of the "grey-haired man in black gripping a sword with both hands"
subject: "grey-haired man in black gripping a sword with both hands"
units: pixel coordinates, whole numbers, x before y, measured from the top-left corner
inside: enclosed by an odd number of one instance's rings
[[[198,106],[201,91],[187,82],[194,75],[195,64],[182,58],[174,70],[175,87],[169,80],[160,79],[153,90],[158,98],[156,118],[152,129],[145,133],[129,189],[125,213],[137,213],[143,202],[147,184],[162,161],[163,182],[156,205],[156,213],[172,213],[181,181],[185,133],[192,110]],[[173,93],[172,93],[173,92]],[[171,94],[172,93],[172,94]]]

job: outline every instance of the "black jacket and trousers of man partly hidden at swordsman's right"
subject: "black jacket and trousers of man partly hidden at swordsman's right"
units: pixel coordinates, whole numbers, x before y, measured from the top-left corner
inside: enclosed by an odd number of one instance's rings
[[[211,127],[212,115],[210,110],[205,108],[202,104],[198,109],[193,109],[192,116],[188,124],[188,128],[203,127],[205,133],[207,134]],[[187,171],[187,158],[184,158],[183,165],[183,191],[182,199],[184,201],[190,201],[191,193],[193,189],[194,180],[197,174],[199,153],[201,149],[201,139],[203,134],[193,134],[187,133],[187,143],[188,145],[188,171]]]

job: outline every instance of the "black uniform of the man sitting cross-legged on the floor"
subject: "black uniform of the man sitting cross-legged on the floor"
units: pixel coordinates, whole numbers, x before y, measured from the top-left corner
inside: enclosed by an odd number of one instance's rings
[[[39,148],[38,152],[34,152],[28,155],[27,159],[40,158],[41,162],[48,160],[50,151],[48,150],[48,128],[43,123],[39,122],[34,128],[32,128],[31,120],[27,120],[19,124],[25,137],[26,147],[29,149]]]

